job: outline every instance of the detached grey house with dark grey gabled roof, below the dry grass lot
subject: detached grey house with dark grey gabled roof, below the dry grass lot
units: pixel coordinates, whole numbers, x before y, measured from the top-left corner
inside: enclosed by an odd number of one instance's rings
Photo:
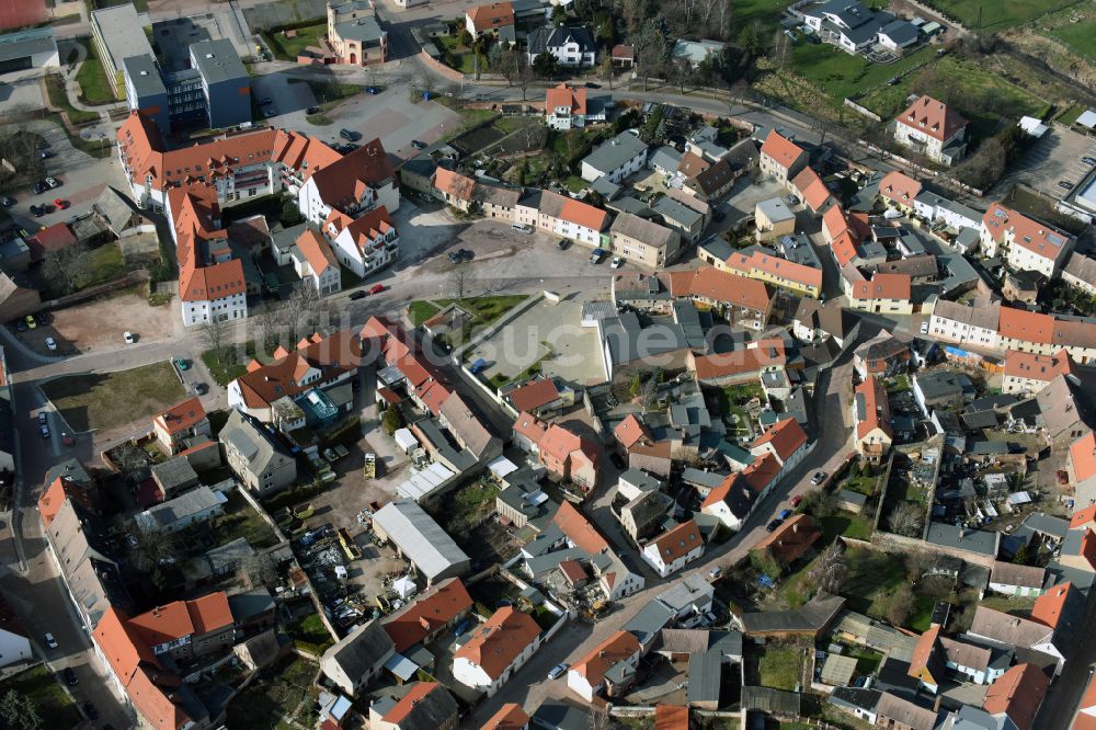
[[[218,440],[236,478],[251,491],[269,497],[297,481],[297,461],[250,417],[233,410]]]

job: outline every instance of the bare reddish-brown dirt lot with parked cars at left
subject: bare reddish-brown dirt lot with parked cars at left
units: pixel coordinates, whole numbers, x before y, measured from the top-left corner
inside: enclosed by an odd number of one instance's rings
[[[132,293],[95,299],[88,304],[49,312],[49,323],[19,332],[20,341],[43,355],[75,355],[94,352],[124,343],[125,332],[133,332],[138,342],[170,340],[182,330],[174,301],[162,307],[149,307],[144,296]],[[46,347],[53,338],[57,351]]]

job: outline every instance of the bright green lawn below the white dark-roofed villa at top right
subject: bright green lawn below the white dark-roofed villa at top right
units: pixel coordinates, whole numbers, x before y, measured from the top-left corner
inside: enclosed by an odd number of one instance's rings
[[[872,64],[825,43],[804,43],[795,47],[791,68],[825,91],[833,105],[840,106],[845,98],[886,83],[888,79],[924,62],[933,53],[931,48],[921,48],[893,64]]]

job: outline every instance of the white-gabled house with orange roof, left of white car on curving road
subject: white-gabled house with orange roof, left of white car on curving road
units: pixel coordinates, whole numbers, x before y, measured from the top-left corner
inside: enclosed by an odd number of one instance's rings
[[[540,626],[513,606],[503,606],[470,632],[453,654],[453,676],[488,697],[499,689],[540,648]]]

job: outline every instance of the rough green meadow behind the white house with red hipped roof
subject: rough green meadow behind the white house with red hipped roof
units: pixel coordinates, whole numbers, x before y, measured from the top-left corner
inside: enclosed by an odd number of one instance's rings
[[[859,100],[884,119],[899,114],[910,94],[928,94],[951,103],[971,122],[977,137],[993,134],[1001,119],[1042,117],[1048,105],[993,71],[945,56],[923,70],[904,77],[893,87],[883,85]]]

